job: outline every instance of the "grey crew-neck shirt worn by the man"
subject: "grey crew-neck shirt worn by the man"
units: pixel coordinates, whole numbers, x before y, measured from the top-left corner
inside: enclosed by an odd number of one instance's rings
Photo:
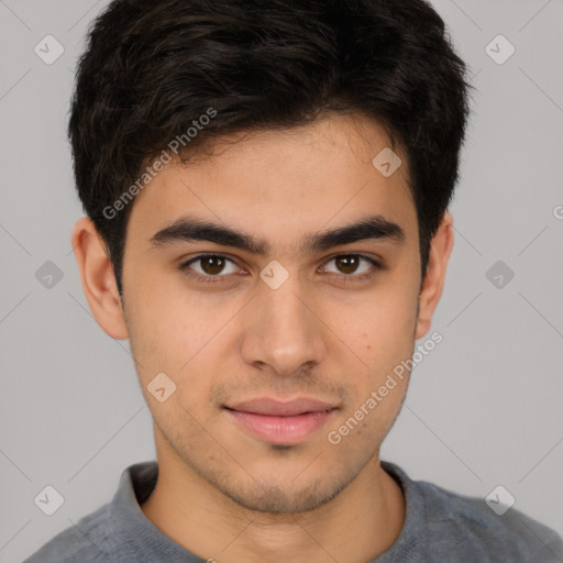
[[[563,563],[561,537],[522,512],[510,508],[497,516],[483,498],[412,481],[389,462],[382,466],[405,493],[407,518],[397,541],[368,563]],[[143,515],[140,504],[151,495],[157,476],[156,462],[128,467],[111,503],[60,532],[24,563],[205,562]]]

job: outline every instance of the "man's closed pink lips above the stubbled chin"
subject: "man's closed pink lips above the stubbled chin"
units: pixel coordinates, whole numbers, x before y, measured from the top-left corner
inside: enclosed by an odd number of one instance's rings
[[[339,407],[309,398],[289,402],[260,398],[224,406],[224,410],[239,428],[254,438],[263,442],[290,445],[305,441],[323,427]]]

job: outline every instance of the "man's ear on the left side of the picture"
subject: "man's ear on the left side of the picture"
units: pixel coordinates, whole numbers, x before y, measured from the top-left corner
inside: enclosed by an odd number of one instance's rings
[[[82,290],[93,317],[113,339],[129,338],[113,264],[106,254],[106,244],[88,217],[73,229],[73,249],[80,272]]]

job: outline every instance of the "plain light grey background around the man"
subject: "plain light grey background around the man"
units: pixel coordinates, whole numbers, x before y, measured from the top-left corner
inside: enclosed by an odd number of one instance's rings
[[[82,213],[66,114],[106,3],[0,0],[1,562],[110,500],[121,472],[155,455],[128,342],[93,320],[70,252]],[[382,457],[467,495],[501,484],[563,533],[563,1],[434,5],[477,91],[432,327],[443,342],[416,368]],[[52,65],[34,53],[47,34],[65,48]],[[498,34],[516,47],[503,65],[485,51]],[[47,261],[63,274],[51,288],[35,276]],[[515,273],[500,288],[486,275],[497,261]],[[51,517],[33,501],[46,485],[65,498]]]

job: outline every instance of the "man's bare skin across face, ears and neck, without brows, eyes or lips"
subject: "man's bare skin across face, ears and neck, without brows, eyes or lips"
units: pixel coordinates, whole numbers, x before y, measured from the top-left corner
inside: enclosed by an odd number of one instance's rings
[[[130,339],[154,419],[159,478],[141,509],[202,559],[362,563],[400,533],[405,498],[380,467],[379,449],[409,377],[338,445],[327,439],[429,332],[453,246],[445,213],[421,284],[406,155],[395,150],[404,164],[388,178],[372,164],[386,146],[377,123],[330,115],[290,131],[230,135],[205,159],[166,166],[133,205],[123,300],[92,222],[81,218],[75,225],[86,298],[110,336]],[[398,223],[405,241],[299,252],[303,235],[367,211]],[[264,239],[272,252],[255,256],[206,241],[151,244],[188,212]],[[191,267],[219,272],[219,283],[191,280],[178,269],[210,252],[234,264]],[[332,260],[338,253],[379,258],[385,269],[360,263],[356,272]],[[272,260],[289,274],[275,290],[260,278]],[[177,386],[164,402],[147,391],[161,372]],[[250,435],[222,408],[261,396],[314,397],[339,409],[302,442],[279,448]]]

